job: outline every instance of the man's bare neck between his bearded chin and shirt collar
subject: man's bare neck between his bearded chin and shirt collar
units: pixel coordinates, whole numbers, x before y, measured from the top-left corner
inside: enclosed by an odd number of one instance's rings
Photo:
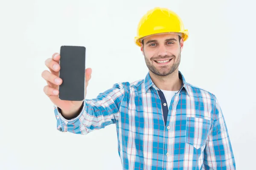
[[[182,80],[179,79],[179,71],[176,69],[168,76],[158,76],[149,71],[150,77],[157,88],[166,91],[179,91],[182,85]]]

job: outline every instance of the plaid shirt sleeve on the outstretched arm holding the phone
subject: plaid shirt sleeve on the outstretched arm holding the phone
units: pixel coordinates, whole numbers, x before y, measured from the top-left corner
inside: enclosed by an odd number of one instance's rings
[[[124,94],[122,83],[116,83],[95,99],[84,99],[81,113],[70,120],[65,119],[54,105],[57,130],[86,135],[93,130],[116,123]]]

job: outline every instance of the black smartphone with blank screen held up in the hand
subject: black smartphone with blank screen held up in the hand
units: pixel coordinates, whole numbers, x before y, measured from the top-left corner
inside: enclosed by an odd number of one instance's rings
[[[85,47],[61,46],[59,77],[59,99],[70,101],[84,100],[85,88]]]

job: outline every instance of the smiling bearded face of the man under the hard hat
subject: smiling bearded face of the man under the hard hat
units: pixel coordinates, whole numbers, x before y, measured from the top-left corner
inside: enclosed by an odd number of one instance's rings
[[[142,43],[141,43],[142,44]],[[180,65],[183,38],[175,34],[156,34],[144,39],[141,45],[148,69],[158,75],[172,74]]]

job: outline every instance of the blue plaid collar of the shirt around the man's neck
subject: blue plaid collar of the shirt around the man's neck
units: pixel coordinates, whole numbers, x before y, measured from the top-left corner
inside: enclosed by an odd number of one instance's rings
[[[179,71],[179,78],[183,82],[179,91],[181,91],[182,88],[185,88],[187,94],[189,95],[188,84],[186,83],[186,80],[185,80],[183,74],[180,71]],[[156,89],[156,90],[160,90],[159,88],[157,88],[157,86],[152,81],[149,72],[148,72],[148,74],[146,75],[146,77],[144,79],[144,87],[145,87],[145,89],[144,89],[145,93],[147,93],[148,89],[151,88],[151,87]]]

